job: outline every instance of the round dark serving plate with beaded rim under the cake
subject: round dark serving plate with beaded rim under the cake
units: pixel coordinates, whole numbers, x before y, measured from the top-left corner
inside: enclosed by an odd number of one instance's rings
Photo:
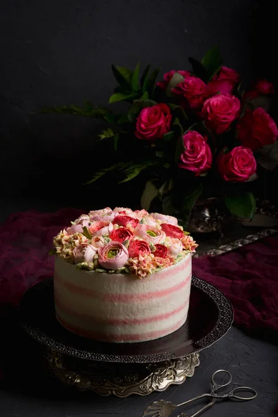
[[[107,343],[68,332],[56,319],[53,278],[26,292],[18,309],[27,334],[57,352],[92,361],[154,363],[198,352],[218,341],[232,325],[234,313],[224,294],[197,277],[192,278],[186,323],[154,341]]]

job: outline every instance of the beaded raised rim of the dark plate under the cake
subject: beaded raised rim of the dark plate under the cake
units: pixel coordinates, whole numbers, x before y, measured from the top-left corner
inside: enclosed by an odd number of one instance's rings
[[[31,287],[27,292],[35,291],[44,291],[45,288],[52,284],[53,277],[49,277],[40,281],[35,286]],[[202,291],[205,295],[211,298],[218,310],[218,318],[215,322],[215,326],[211,329],[211,332],[206,334],[204,337],[199,339],[194,343],[193,352],[199,352],[206,347],[213,345],[216,341],[220,340],[231,328],[231,325],[234,321],[234,311],[231,306],[231,302],[227,297],[220,291],[218,288],[203,279],[197,278],[193,275],[192,277],[192,286],[195,286],[197,289]],[[25,295],[26,295],[25,294]],[[24,296],[25,296],[24,295]],[[24,297],[23,297],[24,298]],[[23,300],[23,299],[22,299]],[[72,357],[77,357],[80,359],[88,359],[92,361],[104,361],[104,362],[122,362],[122,363],[154,363],[167,361],[170,359],[177,359],[183,354],[175,354],[174,352],[159,352],[154,354],[110,354],[110,353],[99,353],[92,352],[83,349],[77,349],[76,347],[71,347],[60,341],[56,341],[53,337],[47,335],[39,327],[35,327],[33,324],[27,322],[22,317],[21,313],[21,304],[17,309],[17,319],[19,324],[24,329],[24,331],[31,336],[35,341],[38,341],[41,345],[50,347],[51,349],[56,350],[57,352],[68,354]],[[168,336],[165,336],[168,337]],[[160,340],[162,340],[161,338]],[[191,353],[193,353],[191,352]],[[188,354],[188,353],[184,353]]]

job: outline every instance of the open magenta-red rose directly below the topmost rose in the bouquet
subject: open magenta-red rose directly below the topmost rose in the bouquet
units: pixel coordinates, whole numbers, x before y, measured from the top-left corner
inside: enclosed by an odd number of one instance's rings
[[[204,117],[208,129],[219,135],[229,129],[231,122],[238,117],[239,112],[240,101],[237,97],[220,94],[204,102],[202,117]]]

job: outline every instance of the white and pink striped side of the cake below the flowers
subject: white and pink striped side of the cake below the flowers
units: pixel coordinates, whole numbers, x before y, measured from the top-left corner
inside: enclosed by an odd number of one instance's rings
[[[149,341],[186,321],[190,283],[190,253],[142,280],[78,270],[57,257],[56,314],[65,328],[80,336],[120,343]]]

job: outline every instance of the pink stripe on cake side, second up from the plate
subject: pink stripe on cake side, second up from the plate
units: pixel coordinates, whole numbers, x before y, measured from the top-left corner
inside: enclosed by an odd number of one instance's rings
[[[81,320],[90,319],[97,324],[107,323],[108,325],[143,325],[143,324],[147,324],[147,323],[152,323],[152,322],[158,322],[158,321],[161,321],[161,320],[165,320],[165,318],[170,318],[170,317],[176,316],[178,313],[180,313],[180,311],[182,311],[183,309],[185,309],[187,307],[188,302],[189,302],[189,297],[186,300],[186,302],[182,306],[179,306],[177,309],[174,309],[172,311],[168,311],[167,313],[164,313],[164,314],[158,314],[157,316],[145,317],[145,318],[120,319],[120,318],[101,318],[101,317],[92,316],[91,314],[81,313],[80,311],[76,311],[76,310],[72,309],[72,307],[70,307],[70,305],[63,304],[62,302],[60,302],[60,300],[57,300],[57,297],[55,298],[56,306],[58,306],[58,309],[60,309],[62,311],[65,311],[65,313],[72,314],[75,317],[80,318]]]

